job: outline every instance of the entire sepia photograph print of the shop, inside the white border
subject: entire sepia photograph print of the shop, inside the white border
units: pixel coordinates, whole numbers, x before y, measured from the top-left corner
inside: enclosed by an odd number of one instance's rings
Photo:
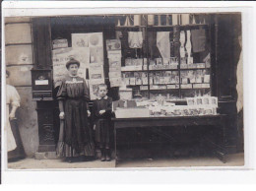
[[[243,166],[241,18],[5,17],[8,169]]]

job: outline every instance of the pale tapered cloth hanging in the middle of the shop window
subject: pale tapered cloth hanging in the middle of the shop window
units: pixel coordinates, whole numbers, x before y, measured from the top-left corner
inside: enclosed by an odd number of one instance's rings
[[[157,33],[157,46],[160,50],[162,59],[170,58],[169,32]]]

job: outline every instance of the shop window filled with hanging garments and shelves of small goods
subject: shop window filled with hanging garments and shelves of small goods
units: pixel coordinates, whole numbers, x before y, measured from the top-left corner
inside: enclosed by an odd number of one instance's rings
[[[121,74],[132,98],[211,96],[208,28],[190,14],[127,16],[124,25],[118,20],[116,32],[128,34]]]

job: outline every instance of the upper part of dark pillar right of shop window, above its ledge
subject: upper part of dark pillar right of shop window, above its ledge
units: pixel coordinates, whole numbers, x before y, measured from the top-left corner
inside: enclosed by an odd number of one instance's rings
[[[237,15],[224,14],[218,16],[217,79],[220,100],[234,100],[236,96],[235,68],[237,59],[235,58],[235,46],[237,44],[234,41],[238,37],[237,22],[239,22]]]

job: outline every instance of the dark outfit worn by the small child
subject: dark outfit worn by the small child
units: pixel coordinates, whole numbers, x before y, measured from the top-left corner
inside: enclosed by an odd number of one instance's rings
[[[99,114],[100,110],[105,110]],[[94,101],[93,117],[96,125],[96,142],[101,149],[110,149],[112,98],[104,96]]]

